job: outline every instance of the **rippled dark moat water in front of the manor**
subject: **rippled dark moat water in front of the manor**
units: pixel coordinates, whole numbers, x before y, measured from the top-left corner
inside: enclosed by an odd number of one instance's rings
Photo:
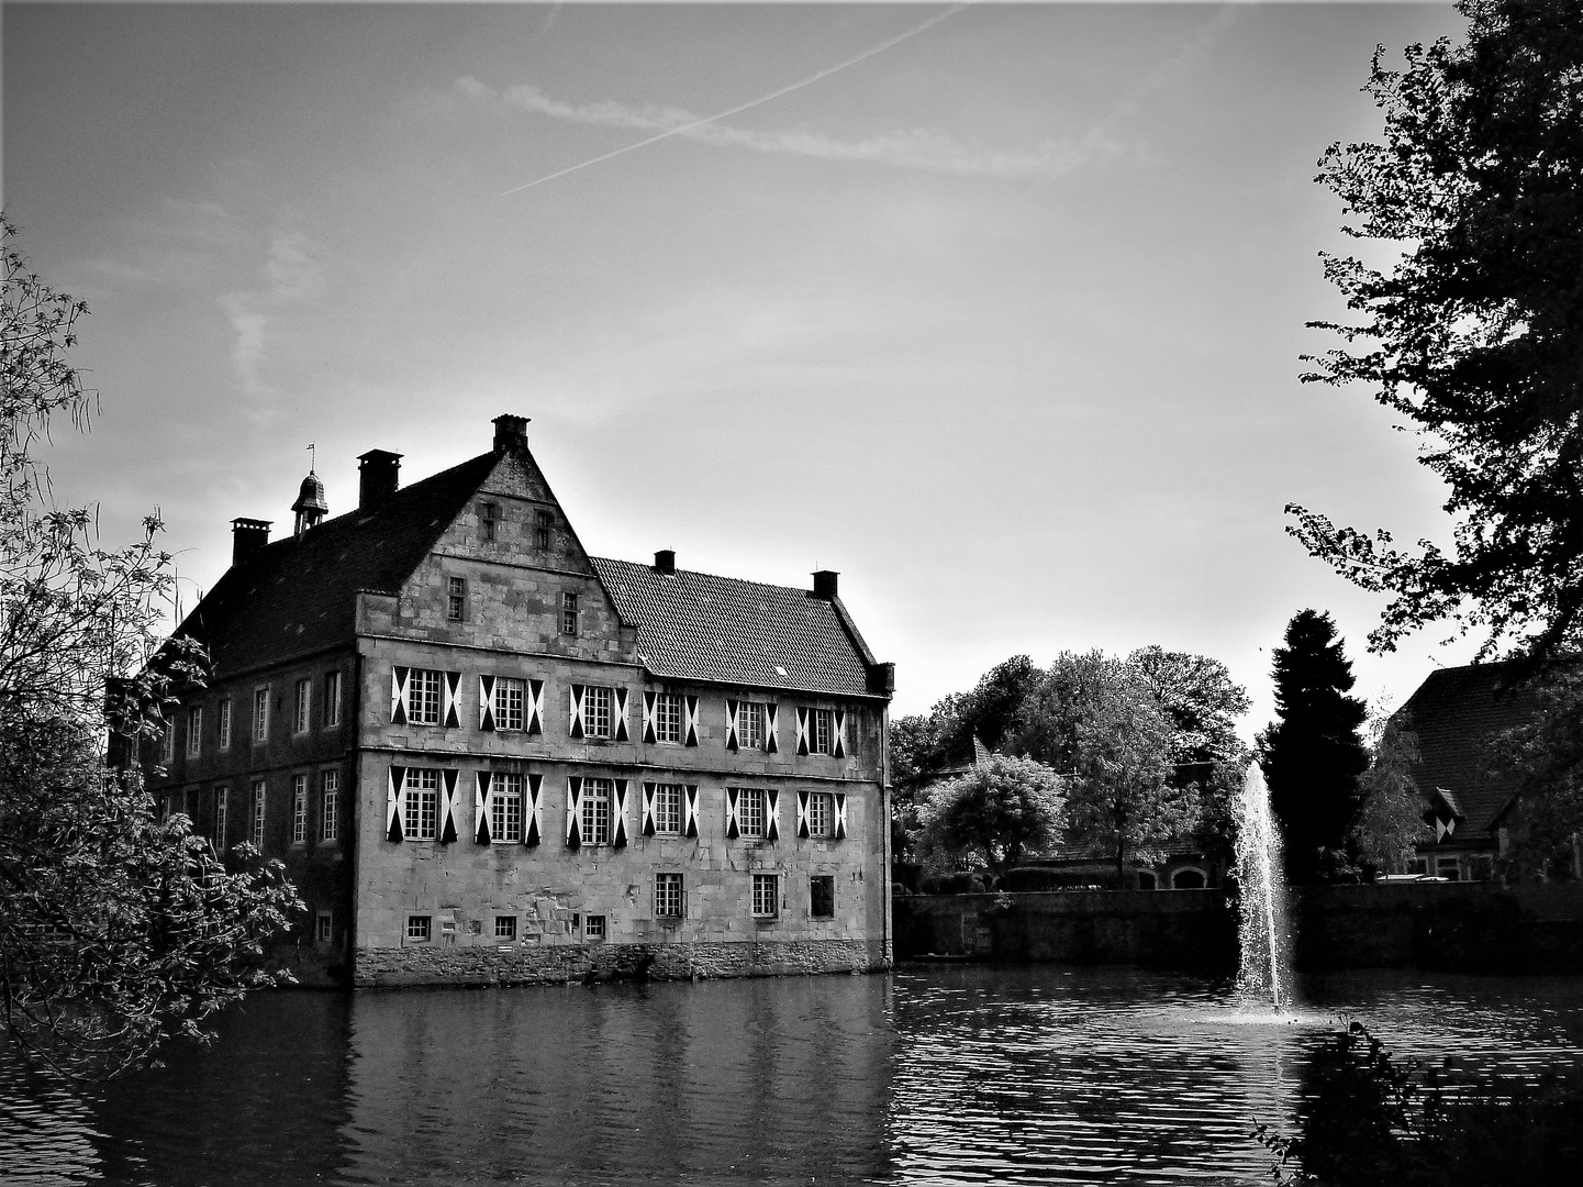
[[[1257,1184],[1327,1025],[1583,1068],[1583,979],[1230,979],[1059,965],[280,992],[92,1092],[0,1049],[5,1184]]]

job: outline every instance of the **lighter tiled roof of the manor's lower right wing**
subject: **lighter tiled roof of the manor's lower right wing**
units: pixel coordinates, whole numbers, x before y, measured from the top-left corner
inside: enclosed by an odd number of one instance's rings
[[[655,675],[804,693],[869,691],[866,648],[806,590],[589,558]]]

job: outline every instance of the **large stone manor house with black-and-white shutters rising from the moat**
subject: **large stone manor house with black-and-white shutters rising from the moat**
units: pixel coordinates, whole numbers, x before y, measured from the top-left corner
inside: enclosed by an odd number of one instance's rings
[[[236,520],[142,754],[166,811],[280,857],[302,973],[358,986],[875,970],[891,664],[836,593],[587,556],[529,452]],[[638,496],[633,483],[633,496]]]

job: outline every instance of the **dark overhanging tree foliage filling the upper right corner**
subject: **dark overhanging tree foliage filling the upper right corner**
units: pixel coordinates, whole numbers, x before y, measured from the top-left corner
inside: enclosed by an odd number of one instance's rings
[[[1304,380],[1361,382],[1450,488],[1450,553],[1287,507],[1312,555],[1390,601],[1369,647],[1433,621],[1536,661],[1583,643],[1583,21],[1577,0],[1461,0],[1464,44],[1376,52],[1382,144],[1331,144],[1317,181],[1388,273],[1325,255],[1360,315]]]

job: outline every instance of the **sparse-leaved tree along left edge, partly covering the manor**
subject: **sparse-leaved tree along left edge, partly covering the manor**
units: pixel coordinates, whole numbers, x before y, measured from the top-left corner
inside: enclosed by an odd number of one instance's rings
[[[261,943],[301,903],[279,862],[228,870],[106,759],[163,727],[203,656],[157,650],[173,588],[158,520],[106,550],[92,509],[49,498],[32,448],[52,417],[87,428],[66,361],[87,307],[28,271],[14,233],[0,216],[0,1017],[57,1070],[117,1074],[274,983]]]

